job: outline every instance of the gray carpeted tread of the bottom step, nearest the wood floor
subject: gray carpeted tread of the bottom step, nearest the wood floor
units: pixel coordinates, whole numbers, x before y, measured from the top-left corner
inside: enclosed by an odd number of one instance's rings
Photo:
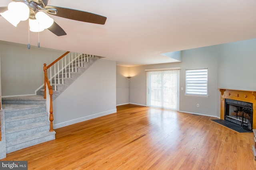
[[[56,132],[50,132],[50,131],[43,131],[43,132],[39,132],[39,133],[35,133],[32,135],[27,135],[27,136],[23,136],[23,137],[19,137],[15,140],[9,141],[8,143],[6,143],[6,147],[10,147],[13,145],[18,145],[20,143],[25,143],[28,141],[32,141],[32,140],[36,140],[36,139],[40,139],[42,137],[46,137],[49,135],[54,135]]]

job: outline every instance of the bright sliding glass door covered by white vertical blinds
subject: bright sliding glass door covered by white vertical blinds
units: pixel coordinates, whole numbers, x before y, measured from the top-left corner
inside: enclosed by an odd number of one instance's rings
[[[147,70],[147,106],[178,110],[180,70]]]

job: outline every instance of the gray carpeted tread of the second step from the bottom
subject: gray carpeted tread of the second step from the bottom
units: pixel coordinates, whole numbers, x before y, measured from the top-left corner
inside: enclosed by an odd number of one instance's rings
[[[28,125],[22,125],[22,126],[17,126],[17,127],[11,127],[6,129],[6,135],[10,134],[10,133],[16,133],[19,131],[25,131],[28,129],[33,129],[33,128],[37,128],[37,127],[42,127],[42,126],[50,126],[50,122],[49,121],[42,121],[42,122],[36,122],[36,123],[30,123]]]

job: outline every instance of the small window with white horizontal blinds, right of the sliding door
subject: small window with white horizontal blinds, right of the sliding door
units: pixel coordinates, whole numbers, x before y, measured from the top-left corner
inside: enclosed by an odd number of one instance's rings
[[[208,68],[186,70],[186,94],[208,95]]]

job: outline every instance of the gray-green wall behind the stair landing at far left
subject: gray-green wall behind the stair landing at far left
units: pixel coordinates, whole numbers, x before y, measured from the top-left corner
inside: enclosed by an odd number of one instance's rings
[[[0,41],[2,96],[34,94],[44,83],[44,63],[66,51]]]

